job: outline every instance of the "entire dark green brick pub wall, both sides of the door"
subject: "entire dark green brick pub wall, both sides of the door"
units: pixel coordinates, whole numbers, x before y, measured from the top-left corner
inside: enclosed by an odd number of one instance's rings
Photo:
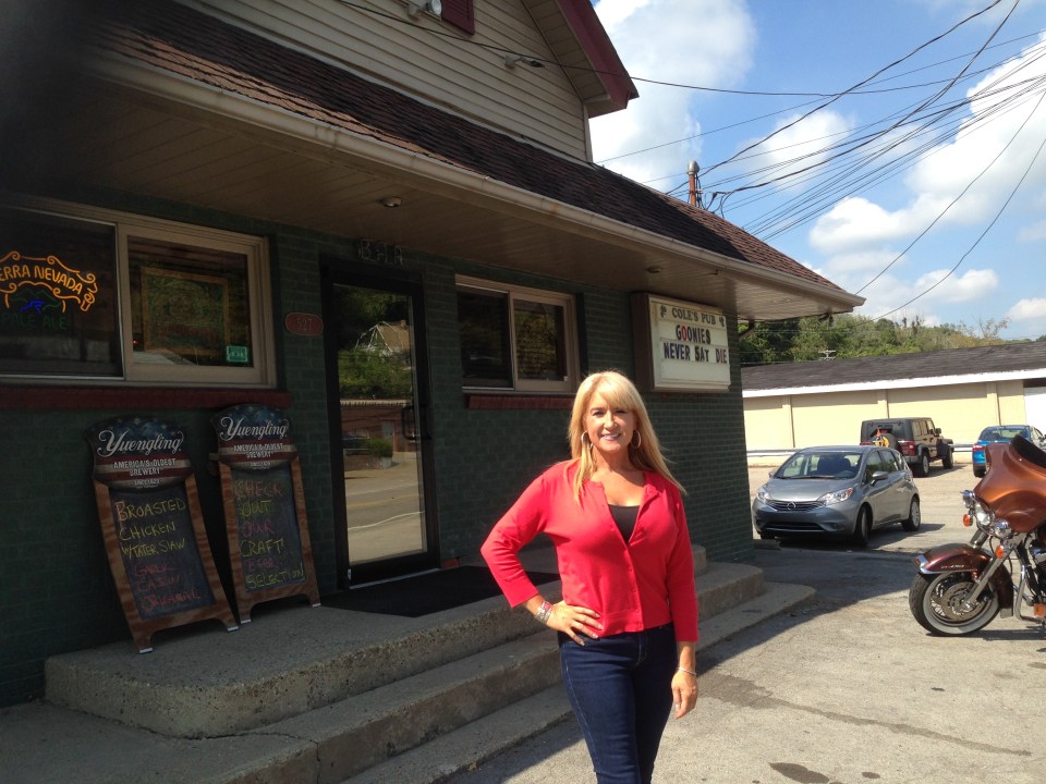
[[[278,388],[301,453],[305,503],[320,593],[338,587],[324,342],[288,333],[288,313],[320,314],[320,259],[380,273],[356,259],[351,240],[218,215],[182,205],[108,193],[63,194],[83,204],[270,238]],[[462,260],[404,252],[403,269],[421,277],[431,373],[440,558],[475,556],[487,530],[543,468],[569,456],[569,409],[469,411],[461,388],[455,274],[568,292],[579,304],[583,372],[619,369],[634,376],[627,293],[581,287]],[[737,339],[731,328],[732,356]],[[655,427],[673,470],[688,487],[694,540],[711,560],[751,560],[747,470],[740,370],[729,393],[648,395]],[[69,395],[77,394],[75,388]],[[84,431],[126,415],[87,406],[61,411],[0,409],[7,448],[0,519],[0,706],[44,690],[44,661],[53,654],[130,639],[120,609],[90,483]],[[145,409],[181,426],[193,462],[216,566],[230,599],[220,485],[208,466],[214,411]],[[212,623],[216,633],[220,626]],[[221,632],[223,634],[223,632]],[[160,633],[162,634],[162,633]]]

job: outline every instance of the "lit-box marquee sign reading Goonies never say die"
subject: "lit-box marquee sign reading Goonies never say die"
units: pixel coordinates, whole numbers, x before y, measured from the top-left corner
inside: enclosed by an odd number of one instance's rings
[[[727,319],[705,305],[632,295],[636,375],[645,391],[725,391],[730,387]]]

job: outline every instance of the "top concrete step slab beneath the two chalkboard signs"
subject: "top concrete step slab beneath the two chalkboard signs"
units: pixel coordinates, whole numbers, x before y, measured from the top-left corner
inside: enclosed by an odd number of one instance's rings
[[[552,599],[559,583],[543,586]],[[333,608],[256,609],[224,633],[171,629],[151,653],[130,642],[52,657],[46,698],[175,737],[247,732],[534,634],[500,597],[421,618]]]

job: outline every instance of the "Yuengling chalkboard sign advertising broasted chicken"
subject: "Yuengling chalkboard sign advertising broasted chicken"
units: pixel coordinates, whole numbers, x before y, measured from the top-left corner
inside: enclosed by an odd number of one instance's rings
[[[138,652],[171,626],[218,618],[238,628],[215,571],[184,437],[150,418],[88,429],[109,568]]]

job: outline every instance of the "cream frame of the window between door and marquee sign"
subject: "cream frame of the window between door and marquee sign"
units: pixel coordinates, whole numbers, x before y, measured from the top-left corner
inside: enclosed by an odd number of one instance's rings
[[[454,283],[455,291],[461,289],[472,289],[474,291],[490,292],[491,294],[503,294],[508,297],[509,306],[509,351],[511,354],[512,387],[506,389],[502,387],[477,387],[464,384],[464,390],[469,392],[503,394],[512,392],[572,393],[577,389],[577,384],[580,383],[581,379],[581,364],[579,362],[577,348],[577,314],[573,294],[564,294],[545,289],[530,289],[527,286],[519,286],[508,283],[498,283],[495,281],[484,280],[482,278],[472,278],[469,275],[457,275]],[[554,305],[556,307],[563,308],[563,345],[567,354],[564,357],[567,363],[567,376],[562,381],[542,381],[520,378],[519,365],[516,363],[515,343],[516,299]]]

